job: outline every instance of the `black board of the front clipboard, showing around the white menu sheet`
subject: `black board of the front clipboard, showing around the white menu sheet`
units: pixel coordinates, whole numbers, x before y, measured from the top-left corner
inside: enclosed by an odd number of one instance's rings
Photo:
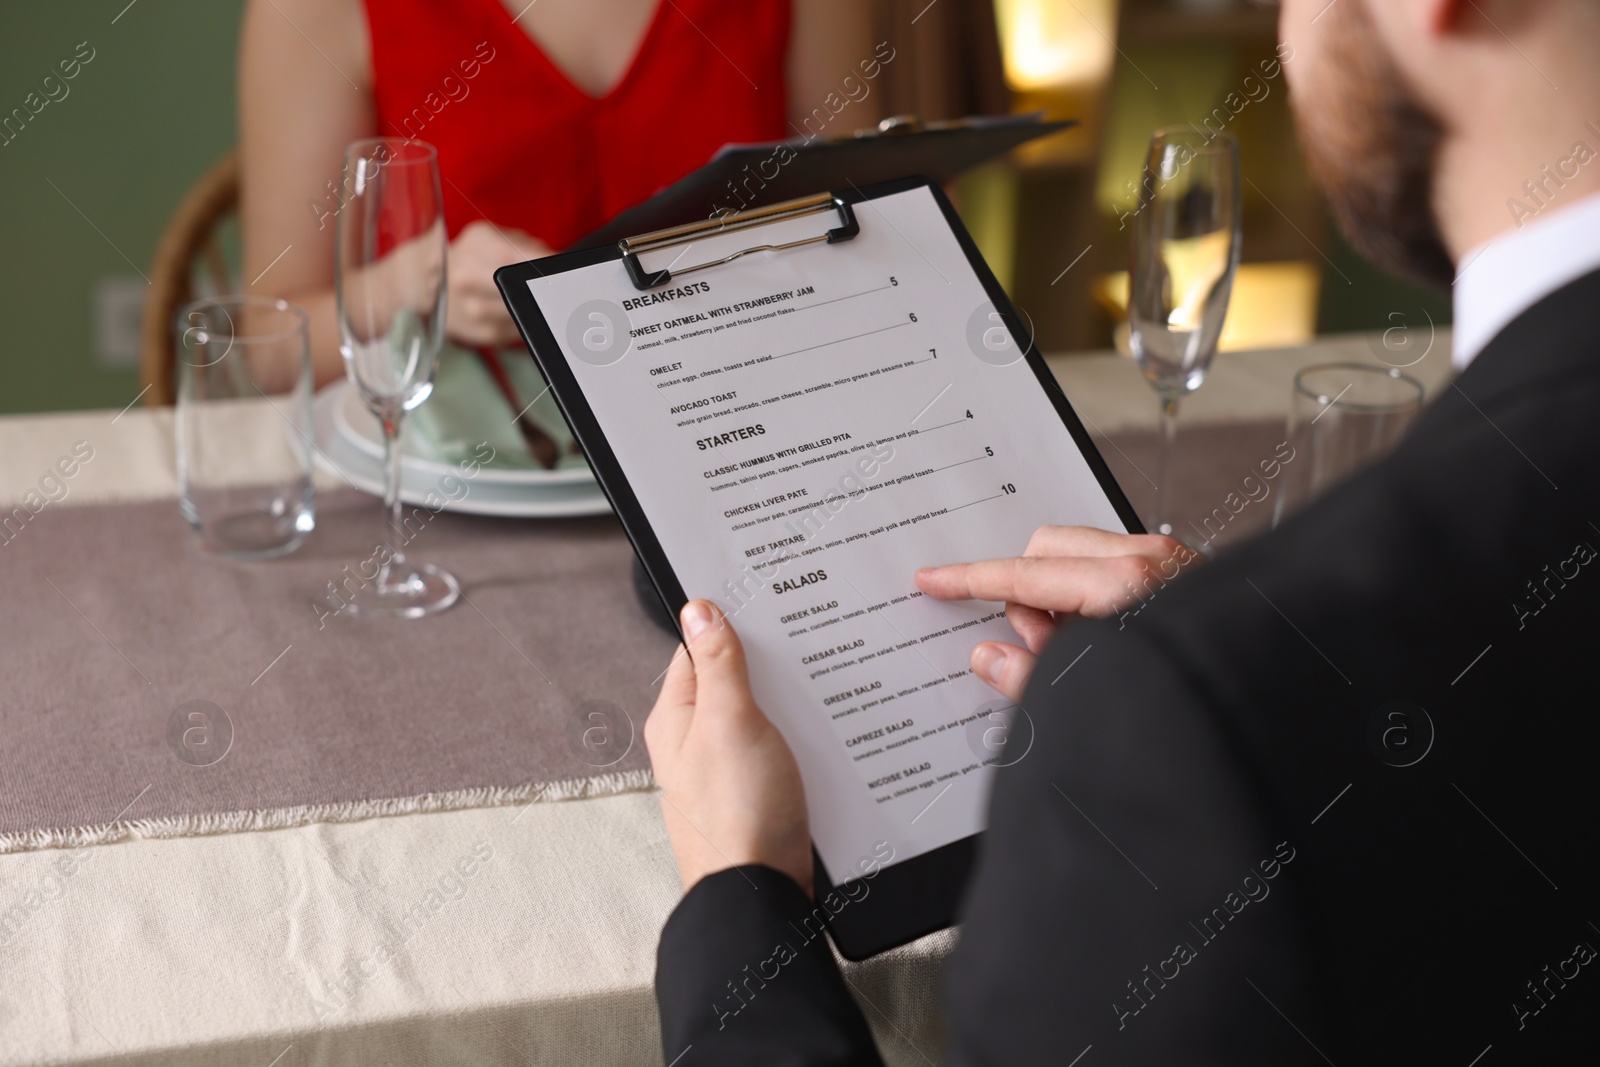
[[[1045,390],[1051,406],[1056,410],[1067,432],[1072,435],[1074,443],[1083,453],[1090,470],[1093,472],[1101,490],[1106,493],[1109,502],[1117,512],[1117,517],[1123,522],[1128,533],[1144,533],[1144,526],[1139,523],[1133,506],[1117,485],[1117,480],[1112,477],[1104,458],[1090,438],[1088,430],[1072,410],[1072,405],[1067,402],[1066,394],[1061,392],[1061,386],[1056,382],[1054,374],[1045,363],[1043,355],[1040,355],[1034,346],[1032,331],[1011,306],[1011,301],[1006,298],[1005,290],[1000,288],[1000,282],[994,277],[994,272],[989,270],[989,266],[984,262],[982,254],[973,243],[966,227],[962,226],[955,208],[950,205],[949,197],[944,195],[939,182],[926,176],[899,178],[867,187],[853,186],[832,194],[814,194],[805,200],[811,208],[816,208],[818,213],[826,213],[827,208],[840,210],[842,206],[853,210],[854,205],[866,200],[907,192],[912,189],[928,189],[933,194],[934,202],[939,205],[946,222],[955,234],[955,238],[960,243],[962,251],[966,254],[966,259],[981,282],[989,301],[1000,314],[1002,322],[1011,331],[1011,336],[1018,341],[1018,346],[1022,350],[1027,365],[1032,368],[1040,389]],[[779,208],[782,206],[784,205],[779,205]],[[840,218],[845,218],[845,214],[846,213],[840,210]],[[739,221],[746,221],[746,213],[722,216],[720,219],[712,219],[701,226],[714,230],[718,226],[731,226]],[[826,234],[827,226],[827,222],[821,222],[819,232]],[[698,227],[688,229],[696,230]],[[506,306],[510,309],[512,318],[517,322],[517,328],[528,342],[528,349],[538,360],[539,370],[544,373],[546,381],[550,382],[550,392],[555,395],[555,400],[562,408],[562,414],[566,418],[566,422],[573,429],[573,435],[578,438],[584,454],[589,458],[589,466],[594,469],[600,488],[611,501],[611,507],[616,510],[616,515],[622,523],[622,530],[634,542],[634,550],[645,565],[645,571],[650,574],[662,603],[667,606],[672,619],[677,621],[678,611],[688,600],[683,593],[683,585],[678,581],[677,573],[672,569],[672,563],[662,550],[661,541],[651,530],[650,518],[638,504],[638,498],[629,483],[627,474],[622,470],[616,453],[606,442],[589,400],[578,386],[578,379],[566,363],[565,352],[557,342],[550,325],[546,322],[544,314],[528,288],[528,282],[531,278],[549,277],[552,274],[589,267],[608,261],[618,261],[618,272],[622,275],[624,266],[621,261],[627,256],[629,246],[656,237],[661,237],[661,232],[645,234],[632,238],[630,242],[618,242],[512,264],[496,270],[494,282],[499,286],[501,296],[506,299]],[[782,253],[778,251],[776,254]],[[728,269],[722,264],[706,266],[714,269]],[[645,282],[650,282],[650,278],[646,277]],[[891,861],[890,865],[874,867],[870,872],[830,872],[813,848],[816,899],[824,901],[829,894],[838,894],[851,901],[850,907],[840,909],[837,915],[832,915],[827,920],[829,934],[834,937],[834,944],[838,945],[840,953],[848,960],[864,960],[915,941],[925,934],[955,925],[958,921],[958,910],[966,880],[976,862],[979,837],[981,835],[966,837],[910,859],[898,862]],[[864,883],[866,891],[854,883]],[[853,886],[853,891],[850,886]],[[826,909],[822,910],[827,913]]]

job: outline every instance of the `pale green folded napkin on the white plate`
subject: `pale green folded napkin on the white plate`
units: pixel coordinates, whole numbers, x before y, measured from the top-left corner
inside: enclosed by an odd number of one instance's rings
[[[573,434],[533,357],[525,349],[502,349],[501,366],[522,403],[533,400],[523,418],[555,442],[562,454],[557,467],[586,469],[589,464],[571,450]],[[517,411],[501,395],[488,368],[477,354],[446,341],[434,371],[434,395],[405,421],[403,451],[418,459],[456,464],[477,459],[483,442],[494,450],[494,459],[483,464],[490,469],[542,470],[517,429]]]

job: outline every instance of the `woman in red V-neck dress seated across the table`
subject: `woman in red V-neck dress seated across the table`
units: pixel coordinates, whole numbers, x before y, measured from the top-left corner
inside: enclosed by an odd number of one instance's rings
[[[333,219],[344,146],[438,149],[451,341],[517,341],[493,272],[565,248],[730,141],[794,136],[872,58],[861,0],[251,0],[240,216],[251,291],[344,373]],[[837,98],[835,98],[837,99]],[[842,128],[869,126],[877,101]]]

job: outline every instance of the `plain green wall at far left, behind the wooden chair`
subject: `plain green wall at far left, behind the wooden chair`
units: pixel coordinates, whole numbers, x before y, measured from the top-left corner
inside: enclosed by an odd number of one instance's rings
[[[0,411],[120,408],[139,392],[136,366],[94,358],[94,286],[142,285],[166,218],[232,146],[240,11],[238,0],[6,5],[0,115],[27,112],[29,93],[43,99],[43,78],[82,42],[94,58],[0,147]]]

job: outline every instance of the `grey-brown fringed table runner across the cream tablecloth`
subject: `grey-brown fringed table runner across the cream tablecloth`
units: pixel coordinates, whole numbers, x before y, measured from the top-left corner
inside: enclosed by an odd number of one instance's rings
[[[1282,437],[1186,430],[1179,525],[1224,507]],[[1102,442],[1141,512],[1157,446]],[[328,614],[378,504],[317,506],[307,544],[269,563],[202,552],[173,501],[51,507],[0,547],[0,851],[648,787],[640,729],[674,640],[635,601],[614,518],[442,514],[408,550],[466,595],[390,622]]]

